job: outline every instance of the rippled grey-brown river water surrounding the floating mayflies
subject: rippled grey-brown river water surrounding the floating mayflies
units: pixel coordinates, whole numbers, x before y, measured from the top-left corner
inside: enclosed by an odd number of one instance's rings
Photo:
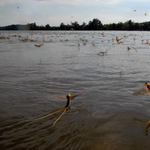
[[[127,91],[150,82],[150,33],[101,33],[0,32],[9,37],[0,40],[1,149],[150,149],[147,125],[133,119],[150,120],[150,97]],[[123,44],[116,36],[125,36]],[[27,122],[64,107],[66,100],[51,96],[67,93],[86,94],[55,126],[61,112]]]

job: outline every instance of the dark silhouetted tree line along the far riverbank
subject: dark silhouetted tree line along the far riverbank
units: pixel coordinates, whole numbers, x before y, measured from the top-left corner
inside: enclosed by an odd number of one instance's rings
[[[36,23],[30,23],[27,25],[9,25],[0,27],[0,30],[132,30],[132,31],[149,31],[150,21],[143,23],[135,23],[132,20],[128,20],[124,23],[111,23],[102,24],[99,19],[94,18],[89,21],[88,24],[83,22],[81,25],[75,21],[71,24],[61,23],[60,26],[50,26],[49,24],[45,26],[38,26]]]

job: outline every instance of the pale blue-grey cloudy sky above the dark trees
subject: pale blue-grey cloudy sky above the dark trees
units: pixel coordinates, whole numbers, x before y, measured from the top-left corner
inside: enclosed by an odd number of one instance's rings
[[[145,15],[147,13],[147,15]],[[150,0],[0,0],[0,26],[150,21]]]

